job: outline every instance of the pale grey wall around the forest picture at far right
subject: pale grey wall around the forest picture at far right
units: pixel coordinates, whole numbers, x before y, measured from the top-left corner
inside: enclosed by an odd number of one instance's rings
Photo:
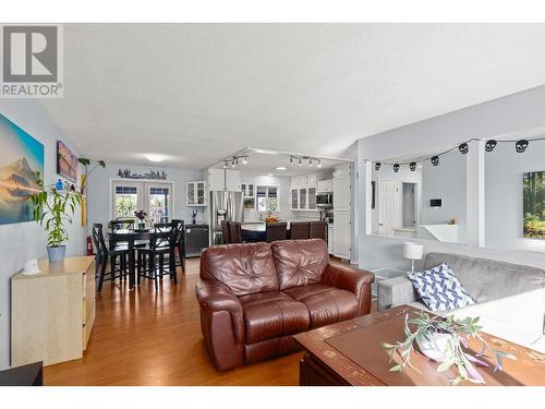
[[[487,245],[545,252],[545,240],[522,237],[522,173],[541,170],[545,170],[545,141],[532,142],[523,154],[514,153],[512,143],[498,143],[486,154]]]

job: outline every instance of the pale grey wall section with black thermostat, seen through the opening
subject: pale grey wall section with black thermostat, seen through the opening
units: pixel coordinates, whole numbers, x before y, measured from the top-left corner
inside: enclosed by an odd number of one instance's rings
[[[465,242],[467,192],[465,173],[467,156],[458,151],[443,155],[438,166],[431,161],[422,165],[422,225],[444,225],[456,218],[458,224],[458,242]],[[441,207],[429,206],[429,200],[440,199]]]

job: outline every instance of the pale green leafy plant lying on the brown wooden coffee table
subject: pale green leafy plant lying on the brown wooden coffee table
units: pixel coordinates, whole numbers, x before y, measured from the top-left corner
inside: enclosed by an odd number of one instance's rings
[[[471,383],[484,383],[483,377],[473,364],[479,366],[488,366],[482,358],[489,358],[494,362],[494,371],[502,370],[504,358],[517,359],[514,356],[493,349],[481,335],[482,327],[477,325],[479,317],[465,317],[464,320],[456,320],[453,315],[449,316],[431,316],[421,311],[414,318],[409,318],[405,315],[404,334],[407,338],[403,341],[396,344],[383,342],[382,346],[388,350],[390,362],[396,353],[401,357],[401,363],[390,368],[390,372],[401,372],[405,366],[420,371],[411,363],[411,354],[414,351],[414,342],[423,339],[432,345],[435,340],[431,336],[434,333],[449,334],[447,350],[445,351],[445,360],[439,363],[437,372],[445,372],[452,365],[458,370],[458,375],[451,380],[452,385],[458,385],[462,381]],[[411,330],[410,326],[415,326],[415,330]],[[470,338],[475,338],[481,342],[482,349],[479,353],[470,353],[468,341]],[[437,346],[436,346],[437,348]],[[491,357],[486,356],[489,353]]]

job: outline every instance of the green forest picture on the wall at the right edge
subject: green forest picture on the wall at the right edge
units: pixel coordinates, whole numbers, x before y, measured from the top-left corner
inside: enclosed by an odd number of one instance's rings
[[[523,176],[523,237],[545,239],[545,171]]]

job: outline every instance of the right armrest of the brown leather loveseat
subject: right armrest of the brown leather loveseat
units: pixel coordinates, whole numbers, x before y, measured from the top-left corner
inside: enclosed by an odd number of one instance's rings
[[[371,284],[374,280],[373,273],[340,264],[328,264],[322,275],[322,282],[355,294],[360,315],[371,312]]]

